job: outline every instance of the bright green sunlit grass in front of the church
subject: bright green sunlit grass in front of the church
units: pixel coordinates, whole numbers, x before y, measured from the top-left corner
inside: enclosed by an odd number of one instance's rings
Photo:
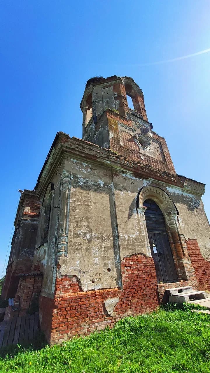
[[[62,345],[5,353],[0,372],[210,373],[210,315],[165,307]]]

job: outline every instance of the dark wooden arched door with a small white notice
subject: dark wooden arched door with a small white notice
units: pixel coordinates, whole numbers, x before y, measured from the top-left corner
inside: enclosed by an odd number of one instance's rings
[[[143,206],[146,207],[146,229],[152,258],[155,263],[157,282],[177,282],[175,264],[163,213],[153,200],[146,199]]]

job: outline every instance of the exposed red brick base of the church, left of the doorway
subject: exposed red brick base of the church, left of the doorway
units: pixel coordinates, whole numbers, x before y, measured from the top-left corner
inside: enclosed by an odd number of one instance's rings
[[[40,297],[41,329],[47,340],[53,343],[87,335],[113,326],[122,317],[155,310],[159,298],[153,259],[143,254],[126,257],[121,261],[121,269],[123,289],[81,291],[76,277],[58,277],[54,307],[52,300]],[[110,316],[104,301],[114,297],[119,297],[119,301]]]

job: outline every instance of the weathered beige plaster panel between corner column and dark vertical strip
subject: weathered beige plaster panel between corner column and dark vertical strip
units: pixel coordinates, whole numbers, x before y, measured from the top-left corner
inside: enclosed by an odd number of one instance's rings
[[[94,164],[68,160],[71,197],[67,258],[61,275],[77,276],[81,288],[121,285],[112,175]]]

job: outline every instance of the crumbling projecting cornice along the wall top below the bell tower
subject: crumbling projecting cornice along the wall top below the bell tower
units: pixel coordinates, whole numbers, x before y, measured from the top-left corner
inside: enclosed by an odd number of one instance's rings
[[[55,148],[54,151],[53,148]],[[50,158],[50,154],[52,151],[53,162],[51,162]],[[44,188],[46,188],[47,186],[47,183],[50,182],[50,178],[52,178],[53,172],[56,172],[59,164],[61,164],[62,158],[66,158],[67,155],[68,157],[71,157],[75,160],[82,160],[83,162],[85,157],[86,160],[89,160],[96,164],[100,164],[101,166],[104,165],[104,167],[106,168],[112,167],[123,172],[127,170],[136,178],[154,179],[160,182],[164,182],[168,185],[180,187],[180,190],[182,190],[182,188],[185,186],[184,182],[186,180],[189,180],[187,178],[184,178],[183,176],[180,177],[179,175],[173,175],[169,172],[155,169],[149,164],[141,163],[141,161],[135,162],[129,160],[121,154],[117,154],[114,151],[105,148],[100,148],[98,145],[95,145],[92,142],[81,140],[75,137],[71,138],[69,135],[64,134],[63,132],[58,132],[55,140],[53,141],[53,146],[50,149],[42,171],[39,175],[37,185],[35,187],[37,191],[37,197],[40,198],[41,194],[44,192]],[[47,164],[48,161],[49,164]],[[42,175],[46,166],[48,172],[47,178],[45,179],[42,177]],[[40,185],[40,181],[42,185]],[[202,186],[204,187],[204,184],[198,182],[194,183],[196,185],[200,185],[197,186],[198,189],[202,189]],[[198,193],[197,189],[193,190]]]

